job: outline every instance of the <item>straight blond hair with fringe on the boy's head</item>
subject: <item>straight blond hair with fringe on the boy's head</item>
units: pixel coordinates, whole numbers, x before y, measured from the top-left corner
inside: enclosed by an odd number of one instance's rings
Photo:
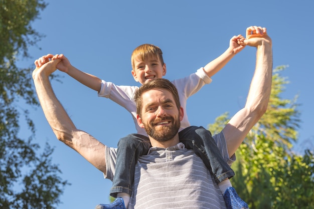
[[[152,44],[142,44],[134,49],[131,56],[132,70],[134,71],[134,60],[141,59],[145,60],[148,57],[157,57],[159,61],[164,66],[163,52],[162,50],[155,45]]]

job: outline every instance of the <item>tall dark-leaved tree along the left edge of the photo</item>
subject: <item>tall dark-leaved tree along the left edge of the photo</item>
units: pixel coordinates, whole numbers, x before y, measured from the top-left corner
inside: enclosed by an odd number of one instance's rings
[[[53,149],[47,144],[42,154],[28,110],[18,103],[36,106],[32,69],[17,67],[17,57],[30,58],[28,47],[43,36],[31,23],[46,8],[43,0],[0,0],[0,208],[55,208],[67,181],[51,164]],[[23,119],[20,117],[23,116]],[[30,136],[19,137],[25,121]],[[22,135],[22,134],[21,134]]]

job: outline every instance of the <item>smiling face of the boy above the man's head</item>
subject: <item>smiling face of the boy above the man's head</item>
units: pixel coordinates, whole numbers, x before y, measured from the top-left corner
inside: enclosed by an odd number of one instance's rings
[[[132,76],[135,81],[144,84],[147,81],[163,78],[166,75],[166,64],[162,65],[158,57],[149,56],[145,60],[134,59]]]

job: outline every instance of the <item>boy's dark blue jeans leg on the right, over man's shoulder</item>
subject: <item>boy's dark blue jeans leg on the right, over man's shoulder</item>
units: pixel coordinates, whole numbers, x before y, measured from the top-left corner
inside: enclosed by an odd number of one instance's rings
[[[216,183],[234,176],[234,171],[223,159],[209,130],[202,126],[190,126],[179,132],[179,138],[187,149],[193,149],[201,157]]]

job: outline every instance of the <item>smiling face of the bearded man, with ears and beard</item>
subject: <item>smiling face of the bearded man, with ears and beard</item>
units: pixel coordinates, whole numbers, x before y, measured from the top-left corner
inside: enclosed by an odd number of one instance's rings
[[[142,103],[139,126],[156,141],[173,139],[183,118],[183,109],[178,110],[173,95],[165,89],[152,89],[142,94]]]

